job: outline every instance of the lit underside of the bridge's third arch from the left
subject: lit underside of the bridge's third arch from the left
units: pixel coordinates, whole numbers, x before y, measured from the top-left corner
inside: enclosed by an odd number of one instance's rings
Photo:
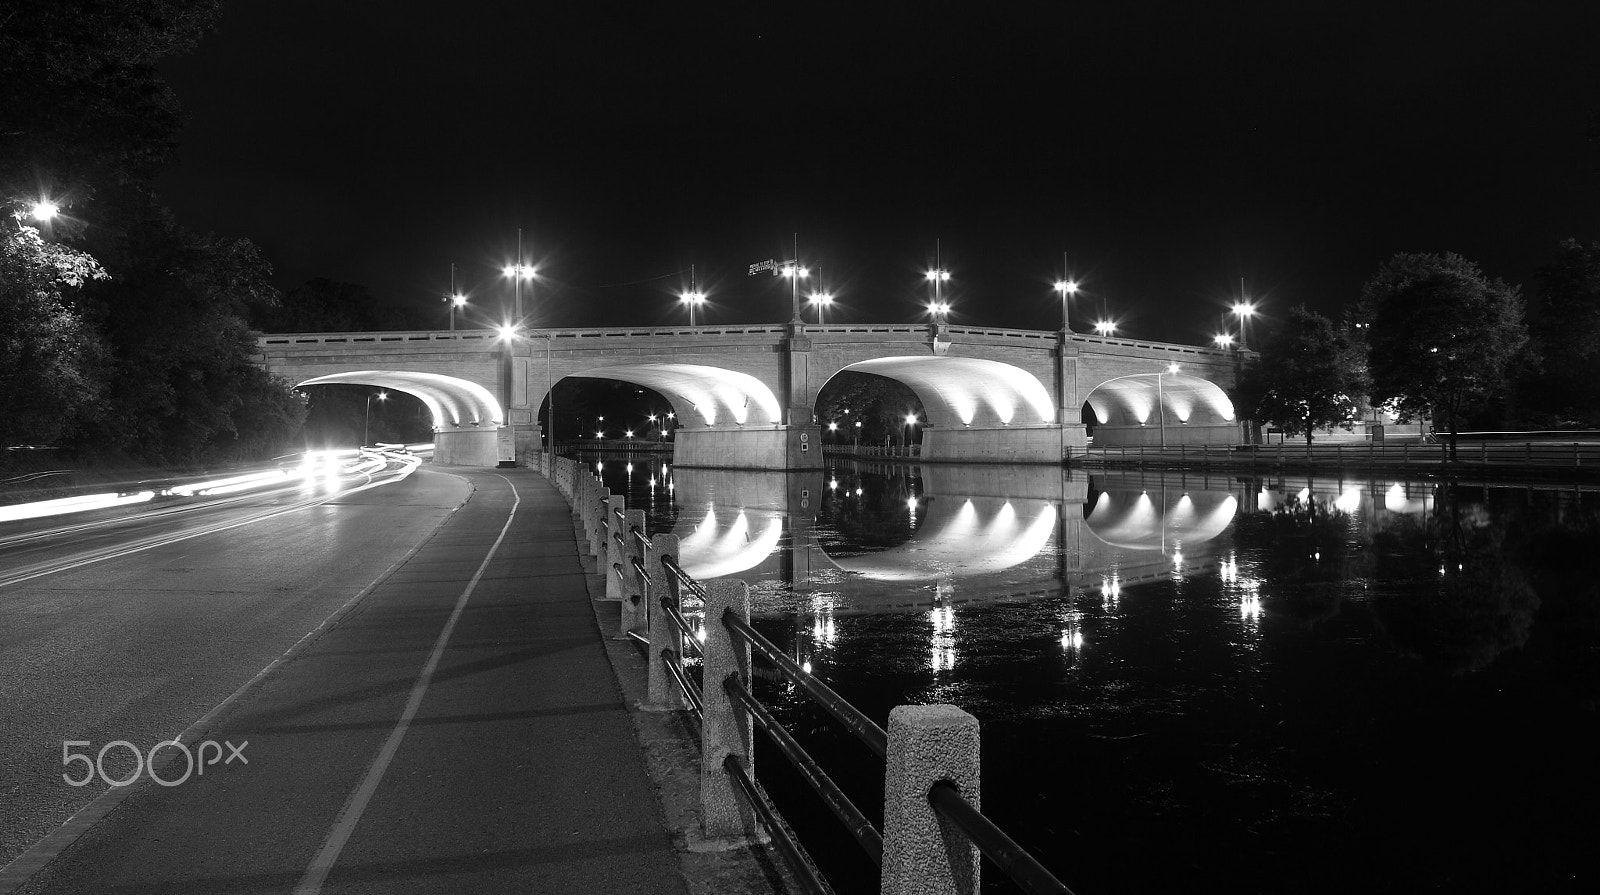
[[[978,357],[877,357],[845,367],[906,383],[934,426],[1040,426],[1056,419],[1040,381],[1019,367]]]

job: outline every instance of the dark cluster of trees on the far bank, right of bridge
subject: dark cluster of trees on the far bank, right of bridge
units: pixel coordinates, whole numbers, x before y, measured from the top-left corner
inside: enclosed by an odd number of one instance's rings
[[[1290,311],[1234,391],[1288,435],[1352,429],[1370,408],[1435,431],[1600,427],[1600,243],[1563,242],[1522,288],[1459,255],[1400,253],[1342,320]]]

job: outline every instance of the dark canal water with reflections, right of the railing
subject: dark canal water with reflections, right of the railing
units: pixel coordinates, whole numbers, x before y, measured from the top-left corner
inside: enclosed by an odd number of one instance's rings
[[[1592,892],[1600,495],[1336,477],[605,461],[880,724],[982,725],[982,809],[1080,895]],[[765,700],[882,820],[882,762]],[[859,849],[757,736],[838,892]],[[1011,892],[984,869],[986,892]]]

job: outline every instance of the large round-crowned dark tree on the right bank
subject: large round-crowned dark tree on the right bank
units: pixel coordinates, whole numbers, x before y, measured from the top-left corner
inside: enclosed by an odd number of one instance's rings
[[[1362,290],[1370,320],[1373,402],[1432,416],[1456,434],[1507,387],[1528,328],[1517,287],[1490,280],[1459,255],[1400,253]]]

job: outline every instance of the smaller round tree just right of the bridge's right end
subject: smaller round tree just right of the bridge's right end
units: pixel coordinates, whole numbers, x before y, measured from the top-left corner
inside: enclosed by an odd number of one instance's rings
[[[1235,399],[1248,418],[1306,435],[1309,445],[1317,429],[1354,427],[1370,389],[1362,344],[1299,306],[1259,362],[1245,368]]]

